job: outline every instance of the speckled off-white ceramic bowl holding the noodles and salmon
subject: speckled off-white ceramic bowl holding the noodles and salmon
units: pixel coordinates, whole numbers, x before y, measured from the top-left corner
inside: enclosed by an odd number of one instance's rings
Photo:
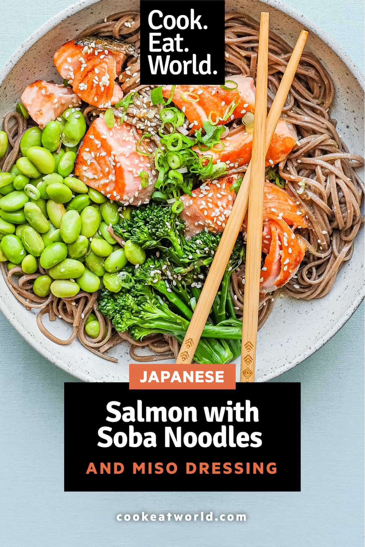
[[[81,0],[48,21],[16,51],[3,68],[0,118],[19,101],[27,84],[38,78],[60,77],[53,66],[54,51],[66,40],[107,15],[124,9],[138,10],[135,0]],[[318,56],[331,73],[336,88],[332,115],[338,131],[356,153],[363,153],[363,77],[337,44],[319,28],[285,4],[273,0],[227,0],[227,11],[242,11],[257,20],[260,11],[270,12],[270,28],[294,45],[300,30],[310,31],[306,48]],[[14,15],[16,17],[16,15]],[[291,369],[325,344],[356,310],[363,298],[363,230],[355,243],[354,256],[343,269],[331,293],[310,302],[279,298],[273,313],[260,330],[256,380],[265,381]],[[1,278],[0,309],[16,330],[37,351],[73,376],[88,381],[128,381],[128,348],[114,350],[117,364],[109,363],[85,350],[78,341],[58,346],[45,338],[36,325],[36,315],[15,300]],[[60,337],[68,336],[61,321],[53,325]],[[238,370],[238,367],[237,367]]]

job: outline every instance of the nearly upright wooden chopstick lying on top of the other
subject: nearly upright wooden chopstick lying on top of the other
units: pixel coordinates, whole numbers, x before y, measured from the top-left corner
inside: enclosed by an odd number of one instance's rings
[[[242,317],[241,382],[253,382],[262,256],[262,210],[266,160],[269,14],[262,13],[258,43],[256,99],[253,121],[251,179],[248,193],[244,314]]]

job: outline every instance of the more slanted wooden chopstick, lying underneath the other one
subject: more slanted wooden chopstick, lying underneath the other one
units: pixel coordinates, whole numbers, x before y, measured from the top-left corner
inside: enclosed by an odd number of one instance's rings
[[[274,102],[270,108],[270,112],[266,120],[266,152],[269,148],[271,138],[273,137],[276,124],[279,121],[281,111],[294,79],[294,75],[296,74],[307,37],[307,31],[300,32],[296,46],[293,49],[293,53],[281,79]],[[241,187],[237,193],[230,216],[228,217],[227,224],[223,231],[221,241],[219,242],[217,252],[208,271],[208,275],[199,296],[199,300],[196,304],[192,320],[190,321],[188,330],[177,356],[177,363],[189,364],[193,360],[196,346],[198,346],[202,330],[204,329],[204,325],[212,308],[212,304],[218,292],[219,285],[221,284],[225,268],[227,267],[231,252],[247,212],[250,177],[251,162],[248,164],[247,171],[242,180]]]

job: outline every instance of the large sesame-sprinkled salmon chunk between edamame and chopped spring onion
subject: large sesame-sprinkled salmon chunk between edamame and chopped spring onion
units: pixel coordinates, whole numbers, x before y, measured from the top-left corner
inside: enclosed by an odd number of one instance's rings
[[[75,174],[88,186],[111,200],[125,205],[148,203],[155,182],[148,156],[136,152],[136,138],[128,124],[107,127],[103,117],[96,118],[79,149]],[[148,173],[142,187],[140,173]]]

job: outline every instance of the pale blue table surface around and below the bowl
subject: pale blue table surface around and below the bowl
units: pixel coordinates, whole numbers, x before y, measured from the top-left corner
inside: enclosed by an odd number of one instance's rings
[[[0,66],[68,0],[3,0]],[[287,0],[363,69],[363,2]],[[0,99],[1,100],[1,99]],[[364,306],[302,382],[301,493],[63,493],[63,382],[0,316],[0,544],[4,547],[360,547],[363,545]],[[278,442],[280,440],[278,439]],[[117,523],[117,513],[246,513],[246,523]]]

